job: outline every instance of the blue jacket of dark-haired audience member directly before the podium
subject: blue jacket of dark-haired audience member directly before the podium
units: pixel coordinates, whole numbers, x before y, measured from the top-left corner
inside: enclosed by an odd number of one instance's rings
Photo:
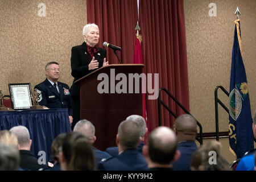
[[[120,155],[98,164],[101,171],[143,171],[147,170],[147,162],[137,150],[125,150]]]

